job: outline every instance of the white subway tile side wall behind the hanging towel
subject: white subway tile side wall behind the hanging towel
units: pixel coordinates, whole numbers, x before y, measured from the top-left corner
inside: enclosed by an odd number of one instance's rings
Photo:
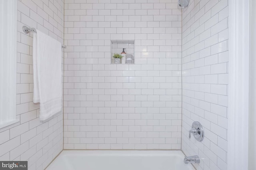
[[[63,115],[39,121],[33,103],[32,33],[27,25],[64,42],[63,0],[18,0],[17,117],[19,123],[0,129],[0,160],[28,160],[29,170],[43,170],[63,149]]]

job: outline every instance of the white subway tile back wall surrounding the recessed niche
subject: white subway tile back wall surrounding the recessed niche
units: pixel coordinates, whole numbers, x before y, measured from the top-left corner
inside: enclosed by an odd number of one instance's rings
[[[65,0],[64,149],[181,149],[181,14],[177,0]],[[134,40],[135,64],[111,64],[111,40]]]

